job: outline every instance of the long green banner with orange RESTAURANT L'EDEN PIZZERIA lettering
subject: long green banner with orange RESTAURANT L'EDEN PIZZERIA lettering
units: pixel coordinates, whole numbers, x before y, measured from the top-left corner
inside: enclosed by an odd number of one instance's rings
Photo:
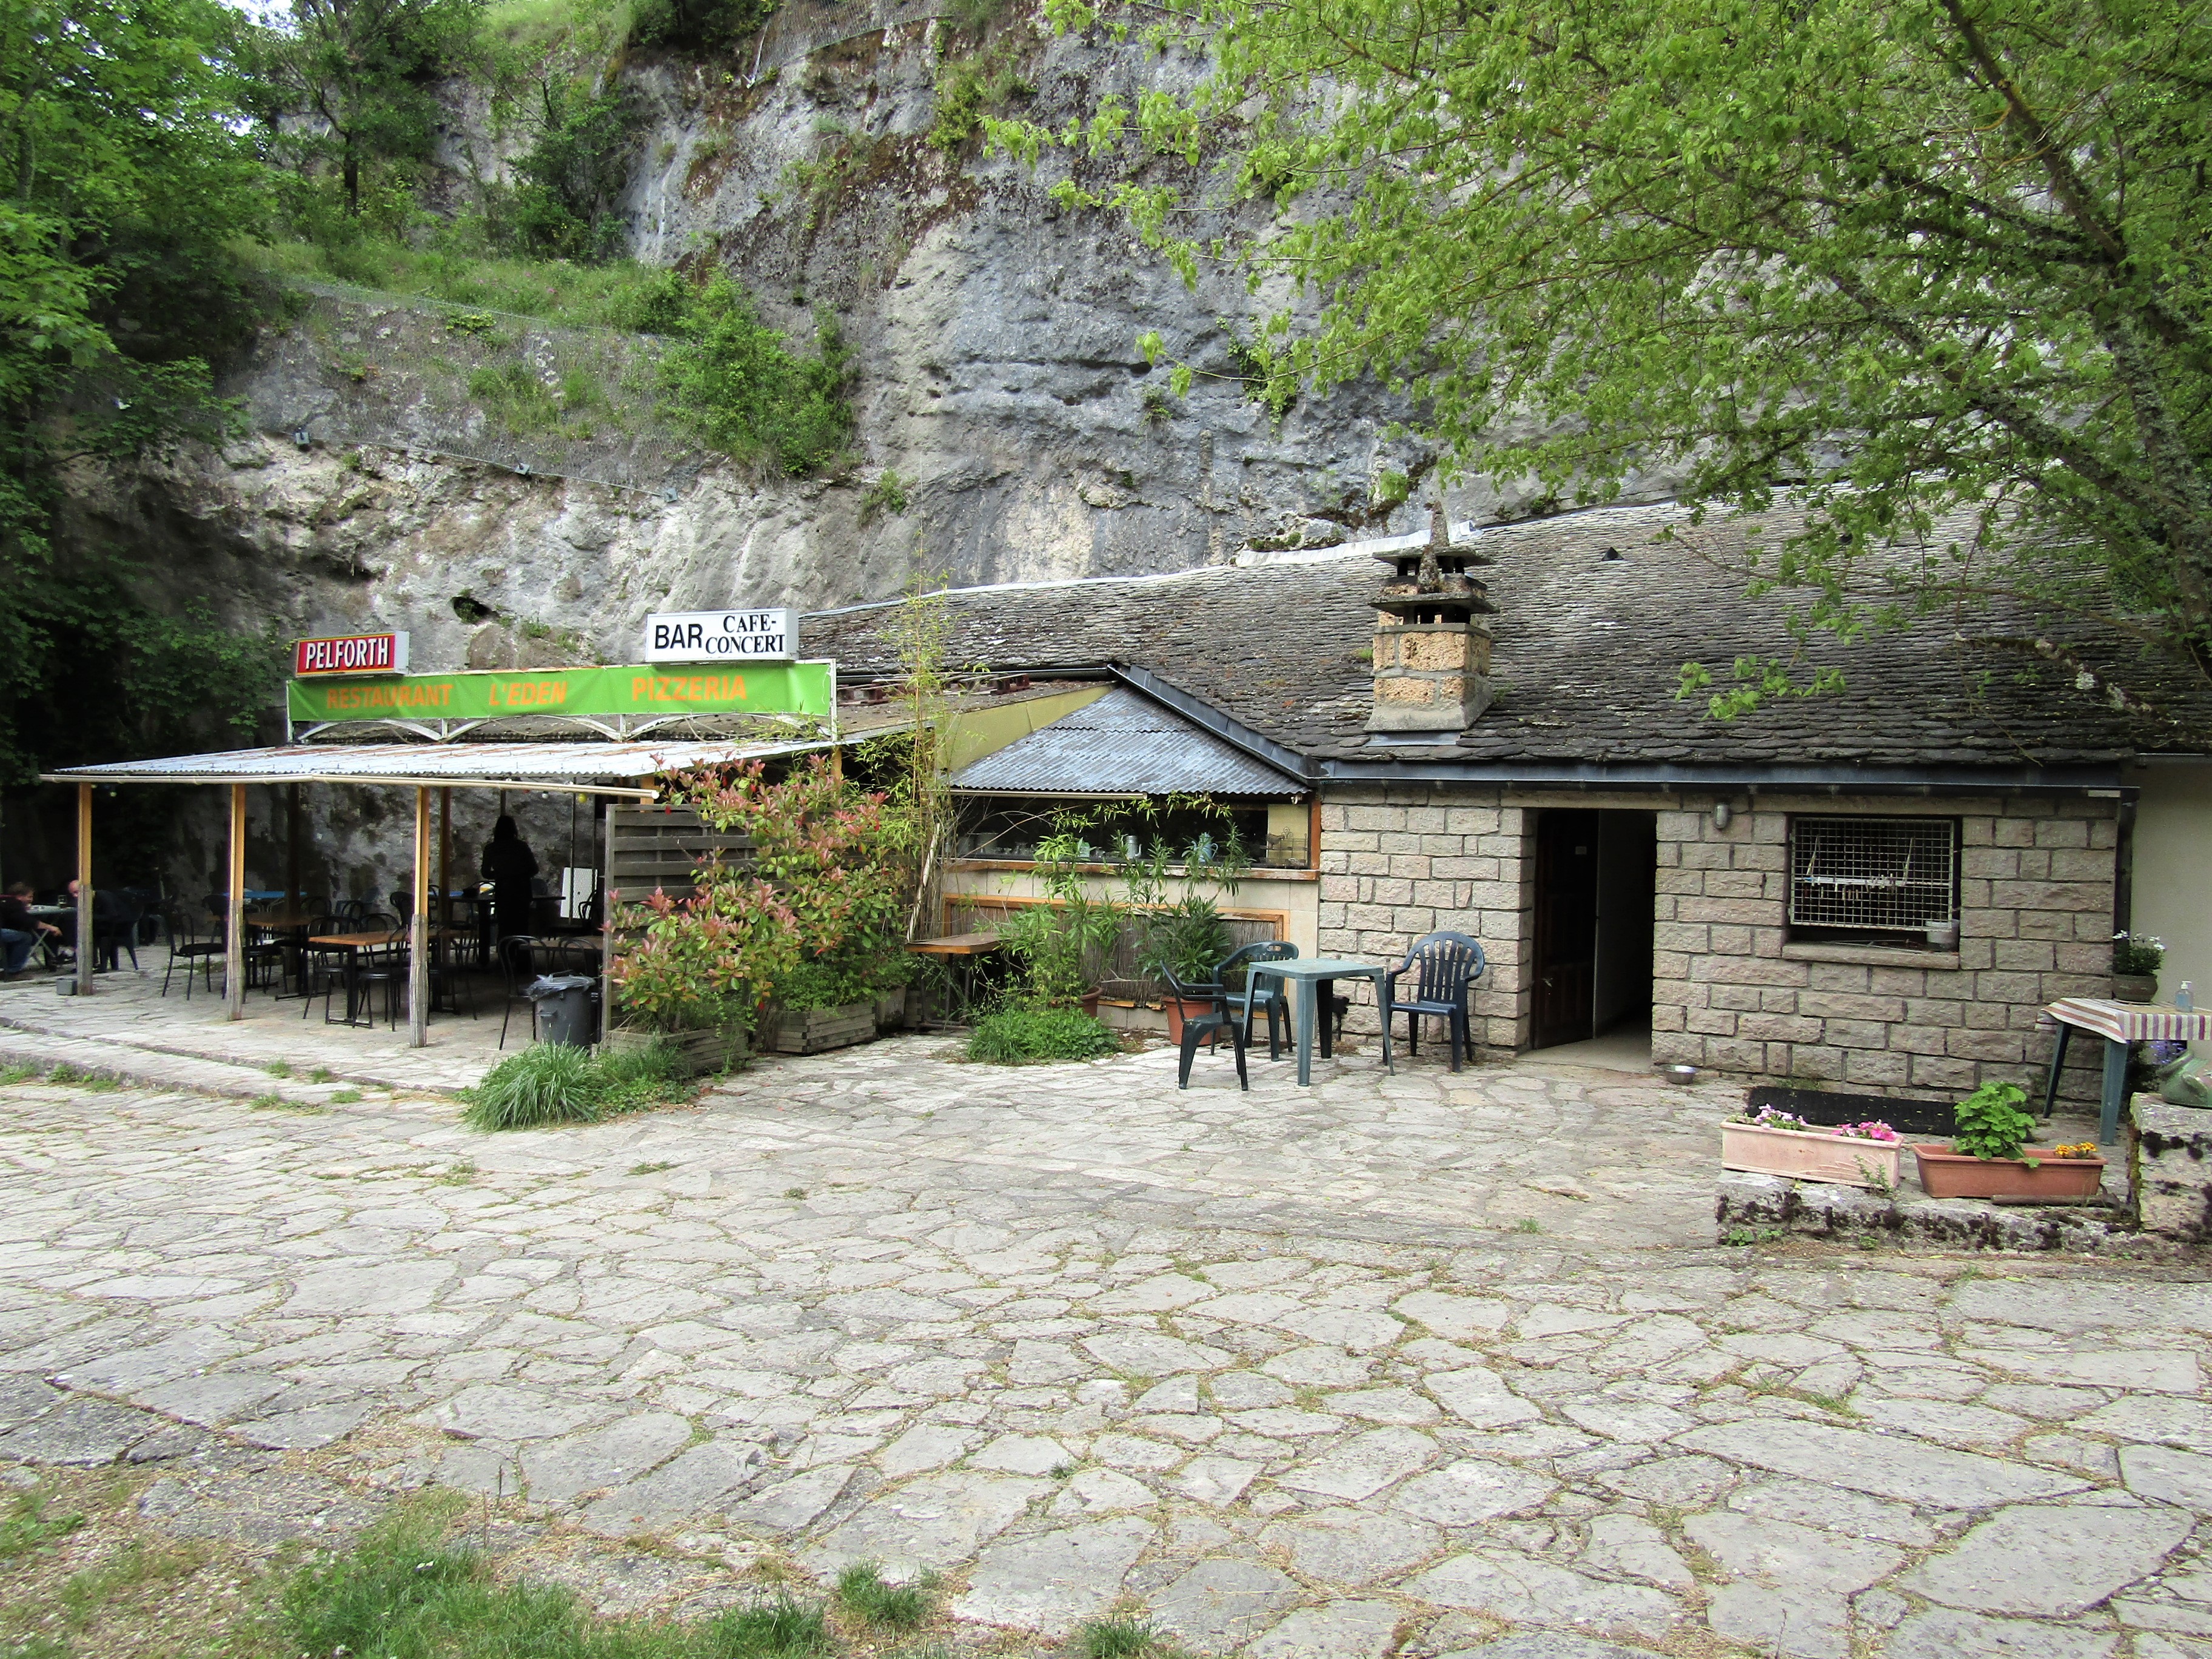
[[[513,668],[487,675],[294,679],[290,710],[314,721],[467,721],[504,714],[818,714],[830,719],[836,664],[743,668]]]

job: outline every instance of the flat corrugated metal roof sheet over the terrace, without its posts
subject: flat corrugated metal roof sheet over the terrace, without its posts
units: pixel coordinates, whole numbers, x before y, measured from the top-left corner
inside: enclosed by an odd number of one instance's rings
[[[290,743],[268,750],[106,761],[42,774],[49,783],[400,783],[564,790],[650,799],[639,779],[690,765],[759,761],[830,748],[686,739],[675,743]]]

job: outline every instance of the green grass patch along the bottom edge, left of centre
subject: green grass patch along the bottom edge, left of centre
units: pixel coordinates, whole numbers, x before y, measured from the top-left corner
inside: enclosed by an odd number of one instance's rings
[[[285,1652],[363,1659],[807,1659],[830,1652],[816,1606],[790,1597],[712,1619],[599,1619],[566,1588],[500,1584],[422,1509],[400,1511],[283,1590]]]

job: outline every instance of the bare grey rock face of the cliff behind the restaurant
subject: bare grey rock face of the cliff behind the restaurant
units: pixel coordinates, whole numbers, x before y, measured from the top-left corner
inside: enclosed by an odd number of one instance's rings
[[[1033,88],[1009,108],[1046,124],[1199,73],[1022,18],[1004,29],[993,62]],[[409,628],[420,668],[624,659],[655,608],[834,606],[894,595],[916,573],[1168,571],[1254,540],[1416,529],[1418,495],[1389,507],[1376,489],[1387,473],[1420,480],[1431,460],[1387,434],[1400,400],[1354,385],[1276,418],[1250,398],[1239,341],[1272,296],[1225,274],[1188,290],[1117,217],[1057,206],[1051,157],[1031,173],[987,155],[980,135],[931,142],[940,53],[967,51],[925,20],[832,40],[761,84],[726,62],[624,71],[646,113],[624,199],[637,257],[717,261],[794,338],[818,316],[838,325],[858,416],[841,476],[697,453],[653,469],[588,447],[531,465],[482,411],[456,420],[392,396],[380,341],[385,358],[436,361],[453,378],[442,358],[467,341],[407,338],[434,307],[323,294],[230,367],[254,438],[86,480],[75,529],[150,551],[181,591],[241,622]],[[502,164],[478,104],[456,102],[456,177]],[[500,327],[553,374],[553,332]],[[1183,398],[1137,347],[1152,330],[1199,372]],[[604,354],[595,372],[613,378]],[[885,473],[902,513],[880,489],[869,502]],[[1453,493],[1460,515],[1517,507],[1486,487]]]

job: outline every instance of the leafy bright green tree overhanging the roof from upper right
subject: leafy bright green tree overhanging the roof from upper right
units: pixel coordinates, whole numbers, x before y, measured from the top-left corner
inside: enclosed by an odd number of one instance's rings
[[[1378,376],[1447,473],[1562,502],[1677,467],[1801,507],[1745,571],[1801,630],[1995,602],[2121,701],[2128,661],[2212,677],[2199,0],[1051,11],[1206,73],[993,142],[1062,150],[1062,199],[1186,279],[1243,272],[1276,392]],[[1712,703],[1818,684],[1743,661]]]

